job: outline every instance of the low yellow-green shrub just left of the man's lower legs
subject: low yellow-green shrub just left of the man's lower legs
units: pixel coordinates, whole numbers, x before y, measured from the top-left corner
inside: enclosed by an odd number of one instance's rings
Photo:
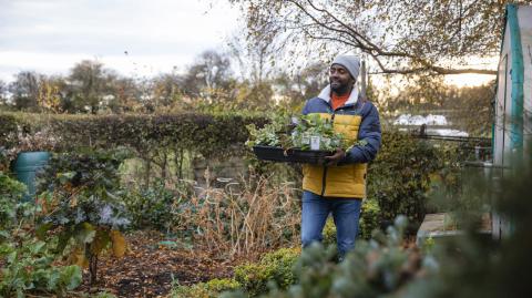
[[[277,287],[285,289],[297,281],[293,267],[299,251],[298,248],[282,248],[265,254],[258,263],[237,266],[235,280],[250,296],[266,292],[268,282],[275,282]]]

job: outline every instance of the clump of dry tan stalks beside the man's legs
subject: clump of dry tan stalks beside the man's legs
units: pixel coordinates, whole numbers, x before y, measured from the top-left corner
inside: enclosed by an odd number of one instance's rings
[[[175,213],[177,229],[194,227],[194,245],[227,257],[256,255],[299,245],[299,195],[294,183],[274,185],[270,177],[249,175],[239,183],[207,185]]]

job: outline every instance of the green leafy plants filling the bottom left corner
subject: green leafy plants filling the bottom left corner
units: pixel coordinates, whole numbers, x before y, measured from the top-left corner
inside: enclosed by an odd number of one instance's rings
[[[64,295],[81,284],[81,268],[57,266],[54,236],[35,237],[32,203],[22,202],[25,186],[0,171],[0,296]]]

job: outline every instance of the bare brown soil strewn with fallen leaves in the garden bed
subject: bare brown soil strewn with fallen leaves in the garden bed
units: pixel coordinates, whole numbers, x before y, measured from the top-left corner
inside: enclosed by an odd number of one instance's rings
[[[135,232],[126,235],[123,258],[103,255],[98,261],[98,281],[88,285],[84,270],[80,292],[108,291],[117,297],[166,297],[173,282],[190,286],[213,278],[233,276],[236,261],[217,258],[203,249],[161,245],[163,235]]]

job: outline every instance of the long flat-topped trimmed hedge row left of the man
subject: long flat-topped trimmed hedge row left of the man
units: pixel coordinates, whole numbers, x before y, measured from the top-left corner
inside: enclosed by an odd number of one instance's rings
[[[35,133],[47,127],[61,137],[60,150],[78,146],[112,148],[129,146],[137,152],[172,146],[197,152],[205,157],[241,154],[248,137],[246,125],[262,126],[265,117],[237,114],[160,115],[44,115],[0,113],[0,137],[17,132]]]

